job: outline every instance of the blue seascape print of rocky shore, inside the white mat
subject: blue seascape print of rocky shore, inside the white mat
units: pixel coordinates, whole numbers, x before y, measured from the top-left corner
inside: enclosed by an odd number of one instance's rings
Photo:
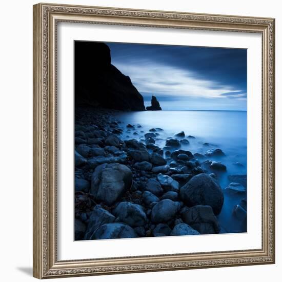
[[[247,232],[246,49],[75,41],[74,102],[74,240]]]

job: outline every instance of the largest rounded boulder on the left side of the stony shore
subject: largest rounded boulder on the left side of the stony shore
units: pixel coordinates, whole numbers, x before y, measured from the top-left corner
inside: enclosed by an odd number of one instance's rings
[[[97,200],[112,205],[131,187],[132,172],[121,164],[104,164],[98,166],[91,179],[90,193]]]

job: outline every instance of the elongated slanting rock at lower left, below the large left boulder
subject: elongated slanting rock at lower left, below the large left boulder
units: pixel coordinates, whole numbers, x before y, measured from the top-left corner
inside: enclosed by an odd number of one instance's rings
[[[85,240],[94,239],[92,238],[92,235],[97,228],[99,228],[100,226],[106,223],[113,223],[114,220],[115,217],[110,212],[103,209],[100,205],[96,205],[93,211],[89,214],[88,225],[84,239]]]

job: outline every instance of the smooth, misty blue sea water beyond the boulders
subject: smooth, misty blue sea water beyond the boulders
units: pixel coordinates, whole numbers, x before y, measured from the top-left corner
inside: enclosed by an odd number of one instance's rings
[[[247,112],[246,111],[141,111],[119,112],[116,117],[124,127],[124,138],[144,139],[144,134],[151,128],[162,128],[156,139],[156,145],[165,146],[166,139],[173,134],[184,131],[190,144],[182,145],[182,149],[193,154],[205,154],[211,148],[220,148],[226,154],[224,157],[209,157],[219,160],[227,166],[227,172],[218,174],[222,189],[230,183],[228,175],[247,174]],[[135,125],[136,130],[126,129],[126,125]],[[137,128],[141,125],[142,128]],[[133,134],[136,132],[138,135]],[[209,143],[209,146],[203,145]],[[243,166],[236,166],[234,163]],[[221,232],[246,232],[246,226],[232,215],[235,205],[239,204],[241,195],[225,194],[224,206],[218,215]]]

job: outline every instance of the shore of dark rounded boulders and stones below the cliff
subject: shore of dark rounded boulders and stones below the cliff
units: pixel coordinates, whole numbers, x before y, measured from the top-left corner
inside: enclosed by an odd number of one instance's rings
[[[159,147],[165,128],[142,132],[142,124],[123,124],[115,113],[75,109],[75,240],[223,232],[217,216],[224,198],[245,197],[247,176],[230,175],[222,189],[218,175],[227,167],[218,160],[225,157],[220,148],[191,152],[195,137],[186,132]],[[138,136],[127,138],[127,131]],[[244,222],[246,210],[243,199],[233,214]]]

